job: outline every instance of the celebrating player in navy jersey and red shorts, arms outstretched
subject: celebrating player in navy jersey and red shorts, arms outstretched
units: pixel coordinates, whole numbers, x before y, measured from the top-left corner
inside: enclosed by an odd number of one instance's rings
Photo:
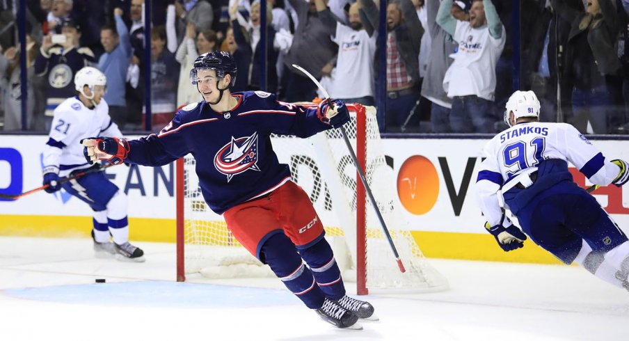
[[[236,76],[227,52],[202,54],[190,77],[203,101],[182,108],[159,134],[83,141],[86,157],[161,166],[193,154],[202,195],[232,235],[326,322],[360,328],[358,318],[373,319],[374,308],[345,294],[319,216],[289,167],[278,162],[270,138],[312,136],[347,122],[349,111],[339,100],[311,108],[262,91],[232,94]]]

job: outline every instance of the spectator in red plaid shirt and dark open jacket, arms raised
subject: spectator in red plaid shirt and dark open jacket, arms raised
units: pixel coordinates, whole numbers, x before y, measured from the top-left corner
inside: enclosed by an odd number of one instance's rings
[[[374,0],[363,0],[363,12],[363,25],[367,33],[373,35],[379,26],[379,10]],[[420,98],[418,61],[424,29],[411,0],[394,0],[388,4],[387,29],[387,110],[379,112],[379,125],[381,129],[394,131],[404,124]],[[376,56],[379,53],[376,48]],[[378,61],[374,65],[378,74]]]

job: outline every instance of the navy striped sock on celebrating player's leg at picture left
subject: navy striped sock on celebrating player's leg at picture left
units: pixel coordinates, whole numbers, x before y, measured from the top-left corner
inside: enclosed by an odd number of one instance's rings
[[[286,235],[278,233],[266,240],[260,254],[288,290],[308,308],[318,309],[323,306],[324,293]]]

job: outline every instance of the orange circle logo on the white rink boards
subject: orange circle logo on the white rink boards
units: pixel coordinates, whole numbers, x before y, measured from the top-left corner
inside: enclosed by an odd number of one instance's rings
[[[397,195],[412,214],[429,212],[437,202],[439,177],[429,159],[414,155],[404,161],[397,174]]]

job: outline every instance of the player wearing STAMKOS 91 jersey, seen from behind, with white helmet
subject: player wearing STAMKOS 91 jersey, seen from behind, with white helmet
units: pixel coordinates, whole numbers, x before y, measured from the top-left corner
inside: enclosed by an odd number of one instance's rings
[[[476,193],[486,229],[504,251],[523,246],[527,235],[566,264],[577,262],[608,283],[629,290],[629,241],[596,199],[573,182],[568,162],[593,184],[621,187],[629,166],[608,160],[566,123],[538,122],[532,91],[516,91],[507,102],[509,129],[485,147]],[[523,232],[501,212],[518,218]]]

